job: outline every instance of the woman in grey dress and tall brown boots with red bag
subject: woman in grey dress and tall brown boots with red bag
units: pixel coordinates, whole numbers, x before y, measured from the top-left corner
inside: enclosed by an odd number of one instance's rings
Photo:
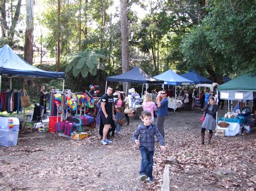
[[[216,128],[216,113],[218,111],[218,105],[216,104],[213,96],[211,96],[208,99],[208,102],[205,104],[204,111],[206,116],[201,127],[202,145],[205,143],[205,130],[209,130],[208,144],[210,144],[213,135],[213,130],[215,130]]]

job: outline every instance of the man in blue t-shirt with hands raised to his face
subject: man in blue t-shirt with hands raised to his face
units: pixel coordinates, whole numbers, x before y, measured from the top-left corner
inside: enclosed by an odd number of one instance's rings
[[[157,96],[157,129],[160,132],[161,136],[164,138],[164,121],[165,116],[168,114],[168,100],[166,97],[167,91],[161,90],[160,95]],[[160,98],[162,100],[160,101]]]

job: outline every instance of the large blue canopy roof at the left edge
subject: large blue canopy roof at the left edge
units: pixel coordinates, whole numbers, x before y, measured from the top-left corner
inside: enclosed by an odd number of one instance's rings
[[[8,76],[65,78],[64,72],[48,72],[30,65],[8,45],[0,48],[0,74]]]

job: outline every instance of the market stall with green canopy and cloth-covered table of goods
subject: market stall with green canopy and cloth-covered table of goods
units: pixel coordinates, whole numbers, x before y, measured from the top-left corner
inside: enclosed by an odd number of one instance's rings
[[[218,118],[217,112],[217,130],[223,129],[218,124],[225,120],[229,125],[225,129],[225,136],[234,136],[244,128],[250,128],[247,125],[254,125],[254,119],[251,118],[250,108],[241,108],[240,103],[245,103],[246,100],[253,100],[256,97],[256,76],[249,76],[247,74],[237,77],[231,81],[218,86],[217,91],[220,93],[220,99],[223,100],[237,100],[239,103],[234,109],[231,105],[229,111],[224,117]],[[217,96],[218,97],[218,96]],[[228,110],[230,105],[228,105]],[[232,132],[232,133],[231,133]],[[237,133],[236,133],[237,132]]]

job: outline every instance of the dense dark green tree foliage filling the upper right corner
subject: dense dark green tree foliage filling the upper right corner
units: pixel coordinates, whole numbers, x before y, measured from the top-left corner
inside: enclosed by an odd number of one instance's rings
[[[214,2],[203,24],[193,27],[182,41],[186,68],[206,70],[213,80],[226,74],[255,74],[255,5]]]

